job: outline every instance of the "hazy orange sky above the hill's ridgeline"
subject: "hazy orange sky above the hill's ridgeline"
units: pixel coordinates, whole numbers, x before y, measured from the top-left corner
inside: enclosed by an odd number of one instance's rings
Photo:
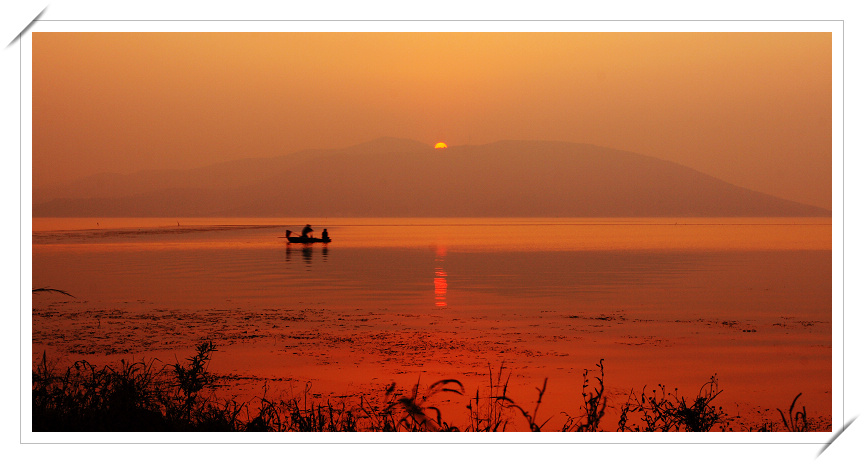
[[[33,34],[37,188],[382,136],[592,143],[830,208],[831,34]]]

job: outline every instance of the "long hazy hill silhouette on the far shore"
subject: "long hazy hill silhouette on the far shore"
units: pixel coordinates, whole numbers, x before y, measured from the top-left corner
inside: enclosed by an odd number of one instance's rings
[[[102,174],[34,191],[59,217],[830,216],[669,161],[594,145],[501,141],[435,150],[404,139]]]

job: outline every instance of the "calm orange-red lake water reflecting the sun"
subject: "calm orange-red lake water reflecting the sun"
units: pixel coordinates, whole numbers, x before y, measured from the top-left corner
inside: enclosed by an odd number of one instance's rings
[[[333,242],[286,244],[307,222]],[[552,430],[603,359],[606,430],[631,388],[692,398],[714,374],[742,424],[800,392],[830,428],[830,219],[34,218],[32,256],[34,288],[73,295],[33,295],[34,359],[174,362],[209,339],[225,392],[321,398],[473,395],[503,363],[532,410],[549,379]]]

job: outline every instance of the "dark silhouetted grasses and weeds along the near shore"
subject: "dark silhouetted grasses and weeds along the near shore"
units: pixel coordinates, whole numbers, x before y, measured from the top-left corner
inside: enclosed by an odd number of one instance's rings
[[[42,359],[33,370],[33,431],[249,431],[249,432],[354,432],[354,431],[467,431],[500,432],[506,430],[598,432],[707,432],[732,430],[732,418],[715,406],[722,392],[715,376],[688,401],[678,390],[658,389],[647,392],[631,390],[618,407],[617,426],[601,426],[607,416],[607,394],[604,386],[603,360],[595,369],[583,373],[582,407],[576,415],[563,413],[564,425],[547,427],[540,406],[546,382],[538,388],[536,402],[522,407],[508,397],[509,374],[504,367],[489,369],[488,389],[466,393],[461,382],[445,379],[422,389],[419,383],[400,392],[391,384],[369,401],[360,396],[357,404],[338,404],[330,400],[315,402],[307,388],[302,397],[290,400],[268,400],[266,387],[253,403],[219,400],[208,394],[216,376],[208,364],[216,347],[211,342],[197,346],[195,355],[185,363],[161,368],[149,362],[121,362],[119,366],[97,368],[79,361],[60,372]],[[446,396],[446,398],[444,398]],[[766,422],[757,429],[741,431],[811,431],[813,424],[804,407],[778,409],[782,427]],[[436,406],[439,399],[465,401],[468,418],[461,422],[444,418]],[[611,409],[611,408],[610,408]],[[787,415],[788,414],[788,415]],[[544,429],[544,427],[547,427]]]

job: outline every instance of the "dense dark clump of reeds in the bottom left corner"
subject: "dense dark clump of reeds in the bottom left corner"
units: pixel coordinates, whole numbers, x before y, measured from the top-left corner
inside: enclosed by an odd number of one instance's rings
[[[62,374],[43,352],[33,372],[33,430],[234,430],[242,407],[200,395],[214,379],[206,370],[212,351],[201,344],[188,365],[161,369],[156,359],[101,368],[77,361]]]

